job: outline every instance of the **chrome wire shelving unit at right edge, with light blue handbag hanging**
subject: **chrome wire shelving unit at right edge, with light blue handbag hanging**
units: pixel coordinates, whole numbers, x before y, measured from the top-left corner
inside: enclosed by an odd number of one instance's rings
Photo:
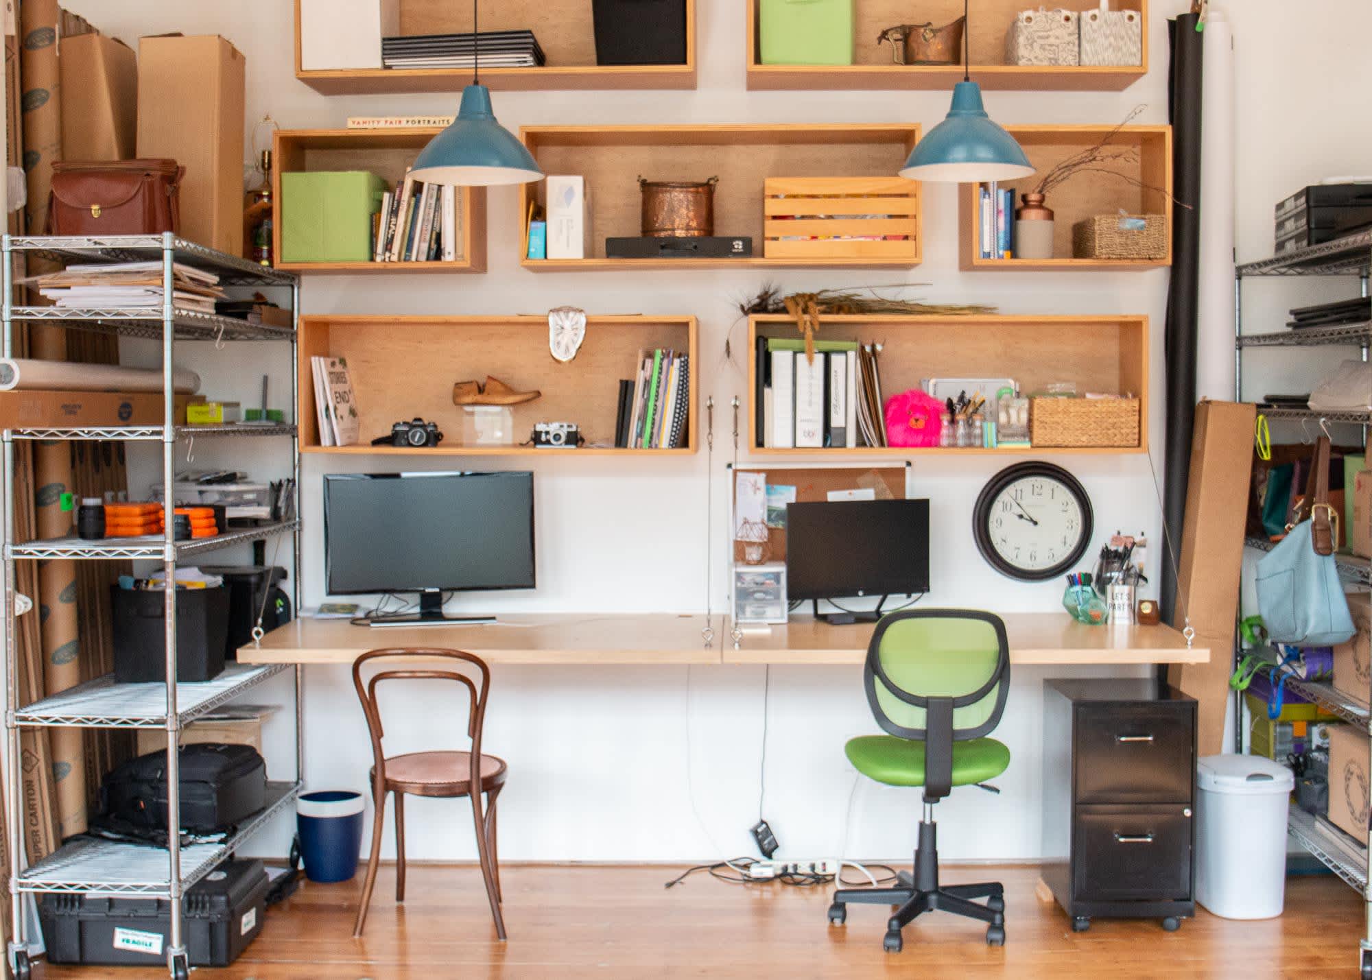
[[[1255,276],[1357,276],[1358,295],[1368,296],[1368,279],[1372,273],[1372,232],[1362,232],[1324,244],[1299,248],[1281,255],[1246,262],[1233,270],[1233,395],[1243,401],[1243,355],[1244,351],[1261,347],[1357,347],[1364,361],[1372,347],[1372,321],[1340,324],[1338,327],[1292,328],[1270,334],[1243,332],[1243,280]],[[1268,419],[1299,421],[1302,438],[1309,441],[1314,424],[1325,435],[1331,425],[1358,427],[1361,443],[1367,445],[1372,427],[1372,412],[1320,412],[1309,408],[1258,408]],[[1265,538],[1247,538],[1247,548],[1272,550],[1273,544]],[[1372,561],[1351,555],[1338,555],[1339,578],[1354,589],[1372,587]],[[1242,641],[1236,653],[1242,655]],[[1351,697],[1336,690],[1332,684],[1302,681],[1287,677],[1287,686],[1303,695],[1345,722],[1356,725],[1360,732],[1372,734],[1372,685],[1368,700]],[[1235,719],[1239,723],[1239,745],[1243,745],[1242,693],[1235,699]],[[1368,743],[1368,766],[1372,769],[1372,740]],[[1291,806],[1287,819],[1287,833],[1318,859],[1325,867],[1343,878],[1362,895],[1364,933],[1358,940],[1358,969],[1362,980],[1372,980],[1372,887],[1368,883],[1368,852],[1372,850],[1372,830],[1365,840],[1356,840],[1334,826],[1323,817],[1314,817]]]

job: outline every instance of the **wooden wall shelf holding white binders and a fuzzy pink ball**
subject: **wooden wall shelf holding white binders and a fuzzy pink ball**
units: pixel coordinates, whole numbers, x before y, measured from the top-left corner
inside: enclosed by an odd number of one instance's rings
[[[1146,316],[825,316],[822,339],[881,342],[885,398],[919,387],[925,377],[1013,377],[1025,394],[1052,382],[1077,391],[1132,393],[1140,398],[1139,445],[1129,447],[1007,446],[1002,449],[888,447],[768,449],[756,442],[761,406],[756,339],[794,338],[785,314],[748,318],[748,445],[759,457],[1121,454],[1148,449],[1148,317]]]

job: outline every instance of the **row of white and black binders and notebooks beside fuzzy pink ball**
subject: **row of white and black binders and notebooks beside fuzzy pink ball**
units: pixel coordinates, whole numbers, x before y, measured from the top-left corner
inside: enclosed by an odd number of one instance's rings
[[[756,445],[767,449],[885,446],[881,349],[856,340],[757,338]]]

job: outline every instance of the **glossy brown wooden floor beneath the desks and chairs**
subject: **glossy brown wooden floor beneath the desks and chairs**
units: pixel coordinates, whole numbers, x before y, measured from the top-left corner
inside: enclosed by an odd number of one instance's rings
[[[268,913],[258,940],[229,969],[198,980],[435,980],[443,977],[1356,977],[1358,896],[1332,876],[1292,877],[1286,914],[1233,922],[1205,911],[1174,933],[1152,920],[1096,921],[1073,933],[1056,905],[1034,896],[1032,867],[949,867],[944,880],[1006,885],[1003,948],[984,926],[933,913],[906,929],[904,953],[881,948],[885,909],[825,920],[829,888],[730,885],[705,874],[664,891],[676,870],[506,866],[509,942],[495,942],[480,873],[412,866],[403,909],[383,869],[364,940],[353,939],[357,883],[306,883]],[[163,969],[59,969],[44,980],[156,980]]]

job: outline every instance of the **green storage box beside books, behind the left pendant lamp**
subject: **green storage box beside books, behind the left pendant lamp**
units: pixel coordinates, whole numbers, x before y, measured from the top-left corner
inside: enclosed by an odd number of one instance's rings
[[[370,262],[388,184],[365,170],[281,174],[281,262]]]

